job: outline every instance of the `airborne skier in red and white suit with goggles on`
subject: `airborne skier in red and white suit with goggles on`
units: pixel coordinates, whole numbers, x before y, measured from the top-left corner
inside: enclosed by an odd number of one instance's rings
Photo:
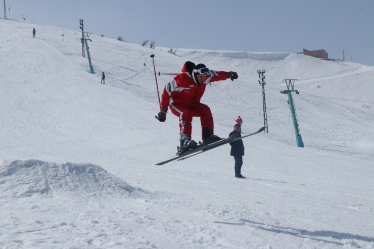
[[[237,79],[238,74],[236,72],[213,71],[204,64],[195,66],[192,62],[185,62],[182,73],[165,85],[161,99],[161,110],[156,118],[160,122],[165,122],[169,106],[171,112],[179,117],[181,152],[193,149],[197,145],[191,139],[193,117],[200,117],[204,145],[221,139],[214,135],[213,116],[210,108],[200,103],[200,99],[207,83],[228,78]]]

